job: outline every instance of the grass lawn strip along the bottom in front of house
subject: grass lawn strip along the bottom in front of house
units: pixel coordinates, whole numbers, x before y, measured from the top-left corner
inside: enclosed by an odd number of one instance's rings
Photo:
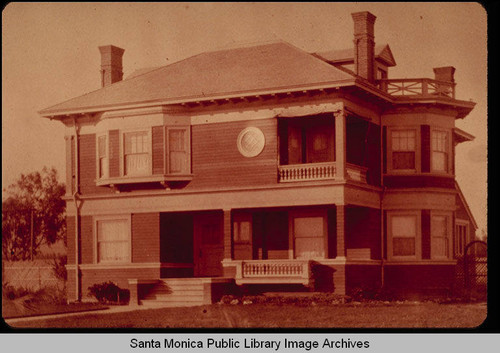
[[[16,323],[14,328],[437,328],[476,327],[485,304],[356,303],[342,305],[214,304],[191,308],[89,313]]]

